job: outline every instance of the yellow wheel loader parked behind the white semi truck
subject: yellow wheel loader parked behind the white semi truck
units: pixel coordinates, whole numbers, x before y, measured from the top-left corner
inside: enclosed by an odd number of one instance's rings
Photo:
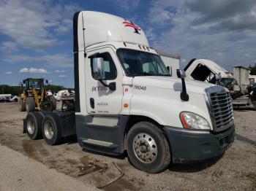
[[[48,112],[56,109],[56,99],[47,95],[44,82],[48,84],[43,78],[23,79],[23,93],[18,100],[20,112],[33,112],[36,108]]]

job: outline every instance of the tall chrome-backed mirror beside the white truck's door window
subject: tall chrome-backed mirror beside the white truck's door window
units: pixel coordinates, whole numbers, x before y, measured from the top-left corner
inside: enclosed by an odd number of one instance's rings
[[[94,79],[102,80],[105,79],[105,67],[103,58],[92,59],[92,73]]]

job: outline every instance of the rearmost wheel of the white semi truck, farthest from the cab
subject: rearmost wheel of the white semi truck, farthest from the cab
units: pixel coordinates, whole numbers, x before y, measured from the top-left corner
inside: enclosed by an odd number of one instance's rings
[[[29,112],[26,116],[25,130],[30,139],[42,139],[42,115]]]

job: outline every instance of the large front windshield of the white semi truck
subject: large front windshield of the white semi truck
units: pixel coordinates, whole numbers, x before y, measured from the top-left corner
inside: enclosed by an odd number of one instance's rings
[[[170,76],[159,55],[129,49],[118,49],[117,55],[128,76]]]

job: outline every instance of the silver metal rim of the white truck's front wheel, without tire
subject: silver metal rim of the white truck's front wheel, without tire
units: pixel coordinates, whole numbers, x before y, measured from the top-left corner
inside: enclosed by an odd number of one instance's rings
[[[132,145],[135,156],[142,163],[153,163],[157,159],[157,143],[148,133],[138,133]]]

